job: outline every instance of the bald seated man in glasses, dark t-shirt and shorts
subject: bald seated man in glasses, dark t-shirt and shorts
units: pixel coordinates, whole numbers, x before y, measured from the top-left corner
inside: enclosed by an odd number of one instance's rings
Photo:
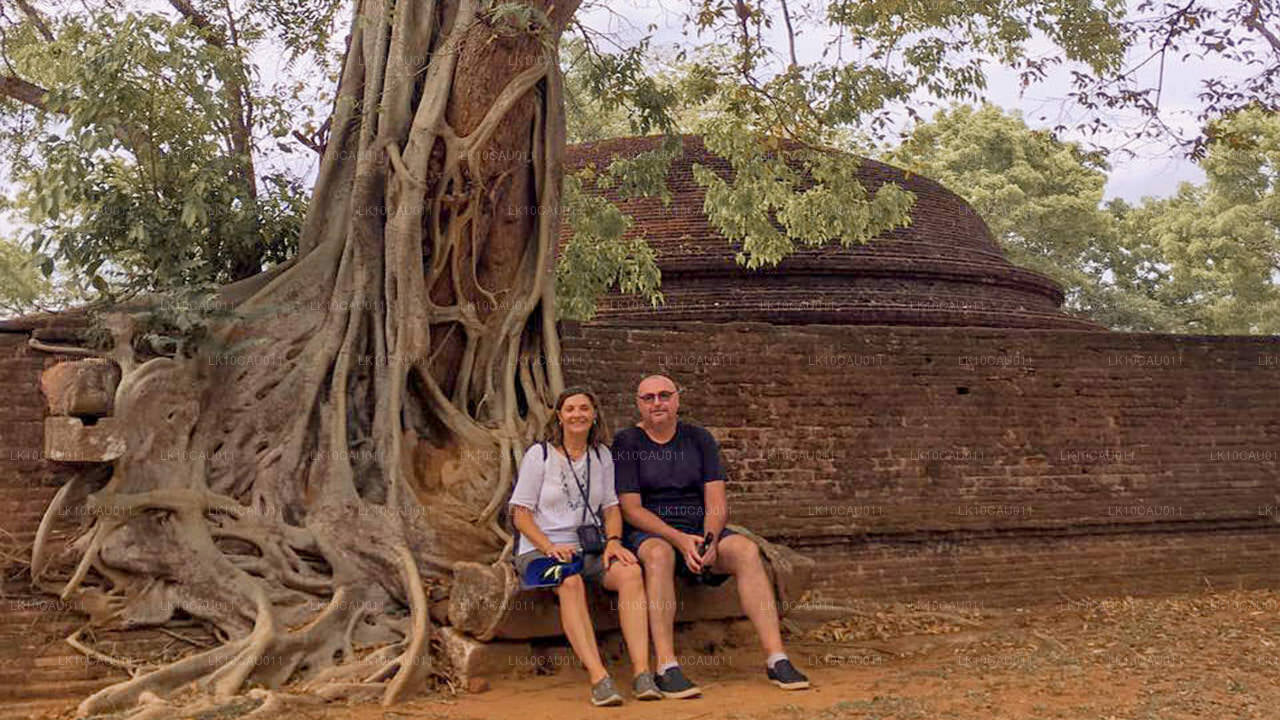
[[[709,584],[736,577],[742,611],[767,655],[768,678],[783,689],[808,688],[809,679],[782,648],[777,602],[760,548],[724,529],[728,502],[716,438],[704,428],[677,420],[680,392],[664,375],[640,382],[636,407],[640,423],[614,437],[613,464],[627,523],[622,543],[644,565],[658,689],[677,698],[701,694],[676,661],[677,571]],[[703,547],[707,536],[712,541]]]

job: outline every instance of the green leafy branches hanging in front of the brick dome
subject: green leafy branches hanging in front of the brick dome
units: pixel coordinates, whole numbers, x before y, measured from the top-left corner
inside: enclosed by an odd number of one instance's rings
[[[1091,72],[1119,67],[1124,50],[1115,1],[794,6],[792,14],[785,3],[700,0],[687,15],[695,37],[662,58],[653,56],[648,37],[607,53],[611,38],[581,24],[566,44],[571,136],[594,140],[622,127],[704,135],[732,169],[719,177],[695,168],[707,192],[704,209],[750,268],[778,263],[797,243],[847,246],[909,222],[909,193],[886,186],[869,196],[855,164],[796,147],[847,147],[849,127],[882,131],[895,109],[914,114],[911,100],[922,92],[975,96],[986,87],[984,63],[1037,64],[1028,50],[1037,31]],[[776,50],[774,10],[785,15],[787,56]],[[819,56],[801,61],[795,42],[803,32],[826,33]],[[781,141],[792,145],[783,151]],[[566,196],[577,187],[571,184]],[[568,241],[558,288],[562,315],[586,318],[591,293],[622,277],[631,278],[628,287],[644,288],[636,278],[657,269],[625,234],[631,224],[621,211],[599,201],[573,206],[594,218],[593,232],[581,236],[590,247],[573,247],[577,234]],[[580,269],[586,273],[579,275]],[[655,300],[648,290],[641,295]]]

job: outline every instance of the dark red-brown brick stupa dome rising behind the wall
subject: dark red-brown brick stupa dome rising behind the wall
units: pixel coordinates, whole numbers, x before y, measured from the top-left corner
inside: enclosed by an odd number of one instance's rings
[[[1062,290],[1052,279],[1005,259],[987,223],[934,181],[865,158],[859,177],[868,191],[896,182],[915,193],[911,224],[865,246],[797,249],[777,266],[749,270],[703,214],[703,188],[692,165],[728,178],[728,161],[708,152],[698,136],[684,136],[684,155],[667,177],[672,202],[618,200],[657,254],[666,302],[653,307],[612,292],[596,320],[660,324],[680,320],[767,322],[840,325],[969,325],[997,328],[1102,329],[1060,310]],[[567,149],[566,172],[653,150],[660,137],[623,137]]]

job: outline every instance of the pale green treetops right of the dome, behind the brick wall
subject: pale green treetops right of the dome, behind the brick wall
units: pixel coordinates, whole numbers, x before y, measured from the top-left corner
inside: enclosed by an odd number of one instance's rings
[[[1107,327],[1274,333],[1280,272],[1280,120],[1249,109],[1213,128],[1203,186],[1102,204],[1105,161],[998,108],[956,108],[884,159],[940,181],[982,215],[1010,260],[1066,288]]]

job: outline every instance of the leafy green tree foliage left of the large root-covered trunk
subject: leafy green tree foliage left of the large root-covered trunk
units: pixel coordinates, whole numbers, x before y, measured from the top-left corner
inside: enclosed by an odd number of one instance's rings
[[[259,160],[298,99],[248,61],[265,26],[193,13],[67,10],[5,45],[29,91],[4,110],[12,209],[46,274],[113,295],[209,288],[293,251],[307,191]]]

